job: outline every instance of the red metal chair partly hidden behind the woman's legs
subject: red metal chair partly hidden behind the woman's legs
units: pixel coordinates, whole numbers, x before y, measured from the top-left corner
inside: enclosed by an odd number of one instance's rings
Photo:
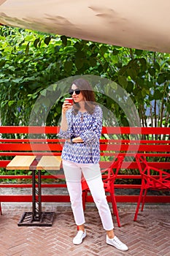
[[[112,162],[112,165],[110,165],[107,169],[101,170],[101,172],[104,173],[104,176],[107,176],[107,178],[103,178],[104,189],[105,189],[105,192],[109,192],[110,194],[112,210],[113,210],[113,214],[117,218],[118,227],[121,227],[121,225],[120,225],[119,214],[117,211],[117,203],[115,200],[114,183],[117,177],[117,173],[120,170],[120,167],[122,165],[123,159],[124,157],[115,157],[115,159]],[[115,173],[113,169],[115,169]],[[85,202],[86,202],[86,197],[88,195],[88,192],[90,192],[90,189],[88,188],[88,184],[85,181],[85,179],[82,178],[82,203],[83,203],[84,209],[85,209]]]

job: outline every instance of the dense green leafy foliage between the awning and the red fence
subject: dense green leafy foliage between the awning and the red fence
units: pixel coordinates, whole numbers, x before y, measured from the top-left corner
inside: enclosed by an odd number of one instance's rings
[[[118,83],[133,100],[142,126],[169,126],[170,56],[145,50],[104,45],[54,34],[0,29],[1,124],[28,125],[34,102],[55,91],[56,82],[74,75],[98,75]],[[117,89],[104,87],[96,95],[109,107],[117,125],[128,125],[120,105],[107,97]],[[46,90],[47,89],[47,90]],[[64,86],[63,86],[64,89]],[[61,95],[62,95],[61,89]],[[51,108],[47,125],[61,115],[61,100]],[[120,99],[121,100],[121,99]],[[38,110],[37,110],[38,111]],[[150,123],[148,123],[150,116]]]

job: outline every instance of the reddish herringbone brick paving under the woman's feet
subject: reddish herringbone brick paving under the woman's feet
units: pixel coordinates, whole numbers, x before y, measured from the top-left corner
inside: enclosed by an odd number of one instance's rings
[[[23,212],[31,211],[31,204],[1,205],[1,256],[170,256],[170,204],[146,205],[137,222],[133,221],[136,204],[118,204],[122,227],[117,227],[114,217],[115,234],[128,245],[128,252],[105,243],[105,232],[93,204],[85,210],[88,236],[80,246],[72,244],[77,230],[69,204],[43,204],[43,211],[55,211],[52,227],[18,227]]]

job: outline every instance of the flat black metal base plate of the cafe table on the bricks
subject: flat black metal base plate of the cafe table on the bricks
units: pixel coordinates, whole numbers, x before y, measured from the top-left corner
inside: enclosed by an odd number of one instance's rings
[[[51,227],[55,212],[43,212],[38,221],[33,218],[32,212],[25,212],[18,222],[18,226],[36,226],[36,227]]]

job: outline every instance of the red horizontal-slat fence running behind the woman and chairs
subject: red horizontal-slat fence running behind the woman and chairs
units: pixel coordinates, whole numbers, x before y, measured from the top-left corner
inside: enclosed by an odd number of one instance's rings
[[[16,155],[61,155],[64,140],[58,140],[56,134],[59,127],[0,127],[0,167],[5,168],[12,157]],[[9,134],[12,138],[9,139]],[[128,195],[127,189],[140,189],[140,178],[138,167],[134,157],[137,152],[144,153],[147,160],[154,167],[169,170],[170,166],[170,128],[163,127],[103,127],[100,140],[101,145],[101,168],[111,165],[113,156],[123,156],[124,161],[120,173],[117,176],[115,189],[125,189],[125,193],[117,195],[117,202],[136,203],[139,193]],[[135,170],[134,174],[131,174]],[[15,174],[15,173],[14,173]],[[0,176],[6,179],[31,179],[31,175],[9,175]],[[64,178],[63,174],[58,178]],[[58,179],[53,175],[42,175],[42,180],[53,179],[55,182],[43,182],[44,187],[62,187],[66,184],[56,182]],[[121,179],[121,182],[120,182]],[[135,182],[136,181],[136,182]],[[31,187],[31,183],[1,183],[1,188],[7,187]],[[110,202],[110,197],[107,195]],[[0,202],[31,202],[31,195],[4,195],[1,193]],[[69,202],[69,195],[42,195],[42,202]],[[85,203],[93,202],[90,195],[85,197]],[[148,195],[146,202],[169,203],[170,197],[159,195]]]

